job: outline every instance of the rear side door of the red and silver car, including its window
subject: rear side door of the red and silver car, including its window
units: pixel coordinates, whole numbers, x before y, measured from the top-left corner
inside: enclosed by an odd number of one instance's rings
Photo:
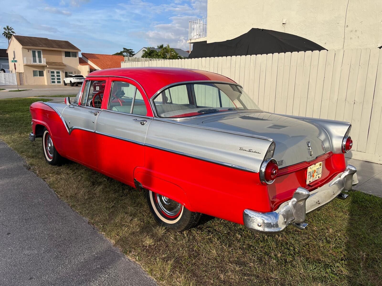
[[[152,114],[146,94],[127,79],[111,79],[107,104],[95,127],[102,149],[98,168],[104,174],[134,185],[133,173],[144,166],[144,143]],[[149,111],[149,112],[148,112]]]

